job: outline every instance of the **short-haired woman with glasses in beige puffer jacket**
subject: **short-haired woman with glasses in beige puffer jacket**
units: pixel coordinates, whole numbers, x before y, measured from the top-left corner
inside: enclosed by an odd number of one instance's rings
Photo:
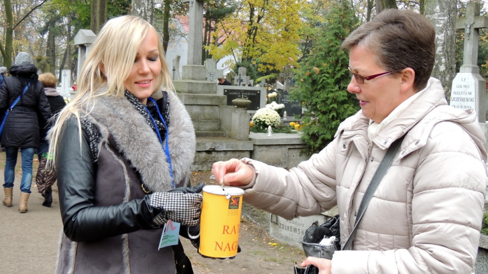
[[[343,42],[347,89],[361,110],[322,151],[286,170],[243,158],[216,162],[217,182],[243,201],[292,219],[337,205],[341,243],[391,144],[399,153],[358,225],[351,250],[308,257],[328,273],[474,273],[487,183],[486,139],[474,110],[447,105],[432,78],[435,29],[424,16],[387,9]],[[345,64],[346,65],[346,64]]]

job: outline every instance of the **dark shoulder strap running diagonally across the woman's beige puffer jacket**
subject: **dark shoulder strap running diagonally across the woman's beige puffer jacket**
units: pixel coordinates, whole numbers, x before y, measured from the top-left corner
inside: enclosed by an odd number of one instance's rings
[[[407,134],[405,134],[407,135]],[[344,244],[344,248],[342,250],[349,250],[351,248],[352,244],[352,239],[354,238],[354,235],[356,234],[356,230],[359,224],[359,221],[361,220],[362,216],[364,215],[364,212],[366,211],[366,208],[368,207],[368,204],[371,201],[371,198],[373,198],[373,195],[376,192],[376,189],[378,188],[381,180],[385,176],[386,172],[388,171],[388,168],[390,167],[391,163],[393,162],[393,159],[395,158],[396,154],[400,150],[400,145],[402,144],[403,139],[405,138],[405,135],[397,139],[395,142],[391,144],[391,146],[388,148],[386,151],[385,156],[381,160],[380,165],[378,166],[378,169],[376,169],[375,175],[373,176],[373,179],[371,179],[371,183],[369,184],[368,188],[366,189],[366,192],[364,192],[364,196],[362,197],[361,203],[359,204],[359,209],[357,210],[357,217],[356,217],[356,222],[354,223],[354,228],[352,229],[351,234],[347,238],[346,244]]]

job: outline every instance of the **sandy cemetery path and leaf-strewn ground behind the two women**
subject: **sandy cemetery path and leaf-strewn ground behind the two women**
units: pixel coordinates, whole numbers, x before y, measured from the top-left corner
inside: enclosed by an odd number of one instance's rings
[[[37,157],[34,160],[33,174],[37,171]],[[0,182],[3,184],[5,152],[0,153]],[[20,154],[16,166],[13,205],[11,208],[0,204],[0,272],[2,273],[53,273],[56,262],[57,242],[62,222],[59,215],[57,188],[53,188],[52,208],[42,206],[44,198],[37,192],[33,180],[32,194],[25,214],[18,212]],[[192,173],[192,184],[199,182],[216,184],[210,180],[210,172]],[[3,199],[3,192],[1,195]],[[256,273],[278,274],[289,273],[294,262],[305,259],[300,248],[277,241],[266,229],[242,218],[239,231],[239,246],[242,251],[234,259],[203,258],[191,245],[183,239],[185,252],[192,261],[195,273],[227,274]]]

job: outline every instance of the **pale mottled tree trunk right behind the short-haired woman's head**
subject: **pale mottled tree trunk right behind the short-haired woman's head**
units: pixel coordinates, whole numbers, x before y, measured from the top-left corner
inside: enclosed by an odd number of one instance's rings
[[[424,12],[436,28],[436,62],[432,77],[442,82],[447,97],[456,74],[456,0],[425,0]]]

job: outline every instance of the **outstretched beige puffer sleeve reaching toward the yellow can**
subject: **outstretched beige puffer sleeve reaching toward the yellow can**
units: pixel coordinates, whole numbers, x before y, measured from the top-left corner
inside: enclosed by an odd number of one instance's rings
[[[252,165],[256,173],[255,182],[251,182],[245,190],[243,201],[288,220],[331,209],[337,204],[337,142],[337,139],[333,140],[322,151],[289,171],[249,158],[241,159]]]

